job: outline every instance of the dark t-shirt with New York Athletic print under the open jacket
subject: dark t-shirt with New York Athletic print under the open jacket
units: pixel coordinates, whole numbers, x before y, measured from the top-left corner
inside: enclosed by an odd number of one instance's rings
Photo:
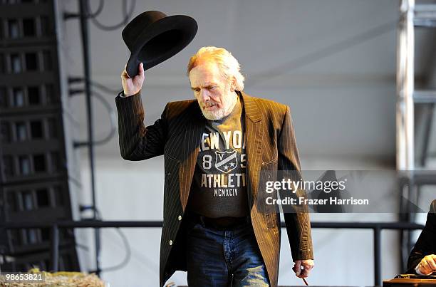
[[[239,100],[221,120],[207,120],[188,209],[203,216],[246,216],[244,109]]]

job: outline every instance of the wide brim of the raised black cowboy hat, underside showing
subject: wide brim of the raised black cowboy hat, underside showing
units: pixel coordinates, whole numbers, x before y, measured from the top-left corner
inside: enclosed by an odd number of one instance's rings
[[[126,71],[130,78],[138,73],[139,63],[148,70],[171,58],[191,43],[197,22],[190,16],[174,15],[150,24],[133,45]]]

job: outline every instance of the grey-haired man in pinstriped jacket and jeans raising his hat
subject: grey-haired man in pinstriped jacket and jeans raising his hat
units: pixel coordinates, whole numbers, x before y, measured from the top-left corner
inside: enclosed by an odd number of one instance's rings
[[[200,48],[187,73],[196,100],[167,103],[153,125],[143,124],[142,63],[134,78],[123,71],[115,99],[122,157],[165,159],[160,286],[176,270],[187,271],[189,286],[277,286],[280,216],[263,212],[259,177],[300,169],[289,108],[246,95],[239,63],[224,48]],[[307,277],[308,214],[284,219],[294,271]]]

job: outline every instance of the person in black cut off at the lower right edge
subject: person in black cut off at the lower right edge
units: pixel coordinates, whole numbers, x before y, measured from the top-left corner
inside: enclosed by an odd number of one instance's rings
[[[436,272],[436,199],[430,205],[425,227],[410,252],[408,273],[430,275]]]

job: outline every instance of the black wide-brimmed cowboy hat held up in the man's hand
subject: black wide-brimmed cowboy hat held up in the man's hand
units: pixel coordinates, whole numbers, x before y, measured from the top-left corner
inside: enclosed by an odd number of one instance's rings
[[[123,40],[131,54],[126,66],[130,78],[137,75],[139,63],[152,68],[182,51],[197,33],[197,22],[190,16],[167,16],[145,11],[123,29]]]

